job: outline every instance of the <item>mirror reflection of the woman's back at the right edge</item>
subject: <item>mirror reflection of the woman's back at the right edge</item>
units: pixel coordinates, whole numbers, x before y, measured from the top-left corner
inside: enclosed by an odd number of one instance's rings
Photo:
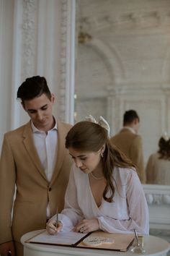
[[[158,140],[158,151],[148,158],[146,177],[148,184],[170,185],[170,137],[166,132]]]

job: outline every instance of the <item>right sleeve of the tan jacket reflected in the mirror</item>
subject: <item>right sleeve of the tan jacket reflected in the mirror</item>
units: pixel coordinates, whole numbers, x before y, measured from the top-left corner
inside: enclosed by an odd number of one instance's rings
[[[144,162],[143,162],[143,145],[142,145],[142,138],[138,135],[133,140],[133,144],[130,148],[130,158],[132,159],[133,163],[135,163],[137,167],[137,173],[140,178],[141,183],[146,183],[146,172],[144,169]]]

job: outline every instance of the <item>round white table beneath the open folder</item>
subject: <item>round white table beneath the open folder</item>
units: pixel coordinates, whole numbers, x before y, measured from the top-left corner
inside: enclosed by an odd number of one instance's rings
[[[129,256],[137,255],[130,252],[130,248],[127,252],[107,251],[103,249],[84,249],[84,248],[72,248],[46,244],[30,244],[25,243],[27,239],[40,233],[40,230],[32,231],[22,236],[21,242],[24,245],[24,256]],[[143,255],[156,255],[166,256],[169,252],[170,244],[164,239],[156,236],[145,236],[144,247],[146,253]]]

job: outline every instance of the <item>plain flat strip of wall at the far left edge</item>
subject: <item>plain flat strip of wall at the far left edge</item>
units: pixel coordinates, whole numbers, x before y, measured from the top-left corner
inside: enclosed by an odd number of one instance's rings
[[[0,136],[11,128],[14,1],[0,1]],[[8,33],[6,33],[8,31]],[[1,139],[0,138],[0,139]]]

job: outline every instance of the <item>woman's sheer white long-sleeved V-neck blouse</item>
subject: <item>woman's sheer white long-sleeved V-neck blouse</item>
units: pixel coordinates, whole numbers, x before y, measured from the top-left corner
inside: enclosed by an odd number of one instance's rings
[[[102,231],[130,234],[136,229],[138,234],[148,234],[148,205],[138,174],[133,169],[117,167],[114,168],[113,178],[113,202],[103,199],[98,208],[91,193],[89,175],[73,163],[65,207],[60,215],[63,230],[71,229],[84,218],[97,218]]]

